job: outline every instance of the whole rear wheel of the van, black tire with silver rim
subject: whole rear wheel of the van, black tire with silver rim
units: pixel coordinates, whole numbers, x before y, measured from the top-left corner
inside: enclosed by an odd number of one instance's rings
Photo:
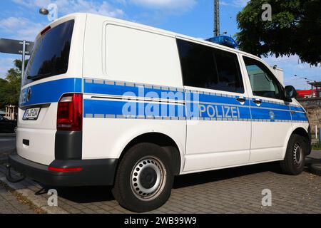
[[[161,207],[170,197],[173,186],[170,164],[170,156],[158,145],[146,142],[134,145],[119,163],[113,196],[122,207],[133,212],[148,212]],[[155,192],[144,193],[156,185]]]

